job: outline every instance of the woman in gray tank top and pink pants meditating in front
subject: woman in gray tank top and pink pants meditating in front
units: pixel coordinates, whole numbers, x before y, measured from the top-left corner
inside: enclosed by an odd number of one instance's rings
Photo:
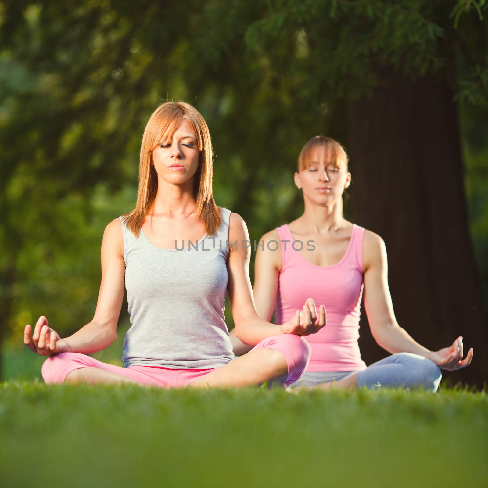
[[[249,386],[297,381],[310,346],[301,336],[325,325],[308,299],[283,325],[256,313],[243,219],[212,196],[212,144],[202,115],[165,102],[142,137],[135,209],[105,228],[102,284],[93,320],[61,339],[41,316],[24,343],[50,356],[46,383],[137,382],[159,386]],[[131,327],[124,367],[86,354],[109,346],[127,289]],[[224,322],[228,292],[237,337],[254,346],[235,358]],[[32,336],[31,336],[32,334]]]

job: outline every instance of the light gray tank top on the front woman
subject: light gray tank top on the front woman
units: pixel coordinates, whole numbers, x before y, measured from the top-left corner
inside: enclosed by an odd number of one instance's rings
[[[230,210],[214,236],[184,241],[182,250],[152,244],[125,227],[125,288],[131,327],[124,366],[214,368],[234,359],[224,317]],[[181,245],[181,244],[180,244]]]

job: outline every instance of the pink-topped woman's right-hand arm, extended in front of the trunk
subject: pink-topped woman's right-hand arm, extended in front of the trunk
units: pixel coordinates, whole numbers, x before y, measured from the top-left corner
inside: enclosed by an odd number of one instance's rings
[[[386,246],[383,239],[365,231],[364,236],[364,301],[371,334],[379,346],[394,354],[412,352],[431,359],[443,369],[453,370],[468,366],[473,357],[472,348],[463,360],[463,338],[458,337],[450,347],[429,351],[415,342],[407,331],[398,325],[387,278]]]

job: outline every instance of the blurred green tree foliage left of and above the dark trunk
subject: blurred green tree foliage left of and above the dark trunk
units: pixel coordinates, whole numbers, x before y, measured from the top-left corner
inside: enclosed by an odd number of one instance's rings
[[[347,103],[376,86],[383,67],[435,71],[461,102],[486,103],[486,8],[0,3],[0,339],[8,330],[19,342],[41,314],[61,333],[91,320],[103,228],[133,208],[142,130],[162,99],[203,113],[216,201],[259,239],[300,214],[292,173],[302,144],[326,133],[347,146]]]

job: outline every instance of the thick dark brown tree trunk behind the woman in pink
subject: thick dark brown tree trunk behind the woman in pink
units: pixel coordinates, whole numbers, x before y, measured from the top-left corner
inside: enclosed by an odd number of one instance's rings
[[[487,381],[486,319],[469,238],[460,130],[447,81],[384,72],[371,97],[351,102],[350,171],[355,222],[379,234],[398,323],[431,350],[463,336],[470,366],[443,377]],[[387,355],[363,310],[360,347],[369,365]]]

